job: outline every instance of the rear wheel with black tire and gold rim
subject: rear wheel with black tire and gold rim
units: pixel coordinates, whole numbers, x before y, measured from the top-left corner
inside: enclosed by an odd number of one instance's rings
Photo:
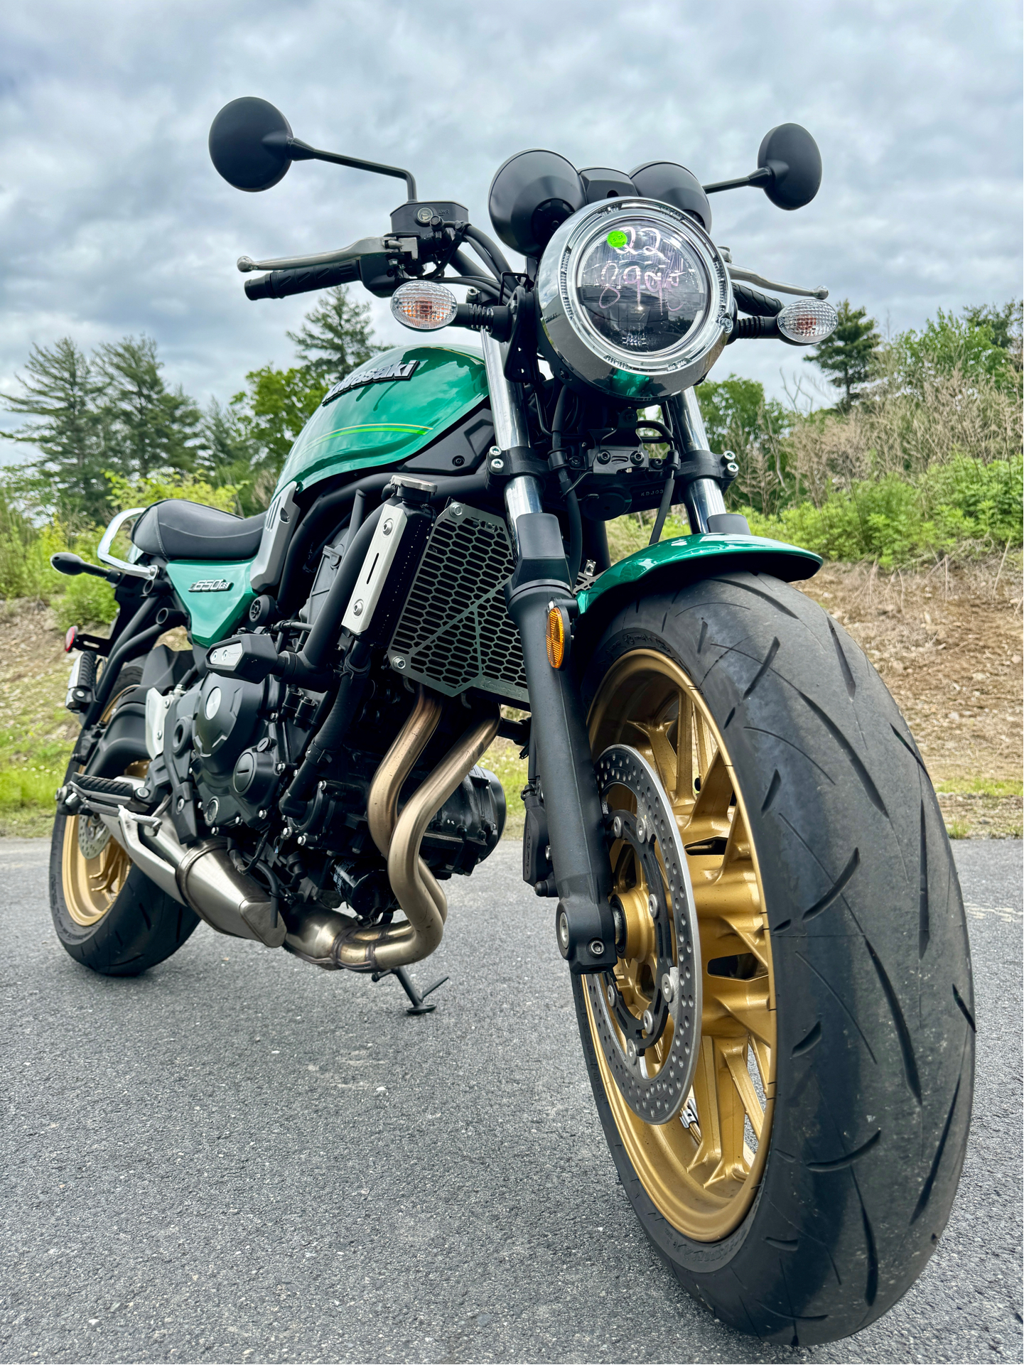
[[[141,677],[138,666],[122,670],[108,718]],[[74,771],[68,767],[67,777]],[[176,953],[199,919],[150,882],[113,838],[97,849],[102,833],[82,816],[57,814],[49,857],[53,927],[83,966],[102,976],[138,976]]]

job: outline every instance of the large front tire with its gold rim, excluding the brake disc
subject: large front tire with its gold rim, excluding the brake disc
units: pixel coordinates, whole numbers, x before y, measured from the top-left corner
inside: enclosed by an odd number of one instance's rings
[[[658,771],[700,925],[702,1065],[670,1125],[624,1103],[573,979],[625,1192],[732,1327],[847,1336],[934,1250],[971,1118],[967,927],[924,764],[859,647],[765,575],[632,602],[583,691],[594,756]]]

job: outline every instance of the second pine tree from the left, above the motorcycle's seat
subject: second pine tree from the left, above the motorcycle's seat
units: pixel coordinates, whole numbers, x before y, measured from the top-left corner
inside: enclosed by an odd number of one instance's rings
[[[124,337],[102,345],[98,366],[117,465],[142,479],[157,470],[190,470],[202,414],[180,385],[164,384],[156,341]]]

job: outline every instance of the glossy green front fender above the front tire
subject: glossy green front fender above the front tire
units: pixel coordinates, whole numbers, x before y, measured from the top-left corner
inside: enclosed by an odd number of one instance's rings
[[[810,550],[759,535],[680,535],[613,564],[579,594],[576,602],[580,617],[590,617],[587,625],[591,625],[598,618],[606,620],[624,601],[635,597],[638,584],[644,594],[674,592],[698,579],[717,577],[730,569],[770,573],[792,583],[810,579],[821,564],[821,556]]]

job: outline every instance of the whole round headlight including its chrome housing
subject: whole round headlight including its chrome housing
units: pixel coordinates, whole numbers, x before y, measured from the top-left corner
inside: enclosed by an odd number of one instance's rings
[[[625,399],[703,379],[732,330],[732,285],[711,239],[651,199],[602,201],[568,218],[541,259],[537,293],[556,369]]]

